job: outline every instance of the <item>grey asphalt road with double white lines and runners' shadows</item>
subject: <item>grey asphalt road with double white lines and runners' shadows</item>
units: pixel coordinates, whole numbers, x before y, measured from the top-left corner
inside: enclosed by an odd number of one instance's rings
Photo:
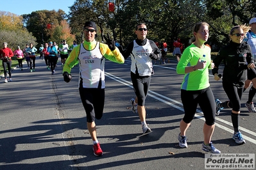
[[[60,62],[58,62],[60,65]],[[24,64],[26,68],[26,64]],[[183,118],[176,61],[155,65],[146,98],[147,123],[153,132],[143,137],[139,116],[130,109],[135,94],[130,81],[130,61],[106,62],[106,97],[103,118],[96,120],[102,157],[92,153],[92,139],[78,92],[79,67],[73,80],[63,81],[62,67],[55,75],[44,61],[36,60],[35,72],[13,70],[13,82],[0,79],[0,169],[204,169],[203,114],[198,112],[187,130],[188,148],[178,146]],[[214,96],[227,100],[221,81],[210,76]],[[230,109],[216,117],[212,137],[221,153],[256,153],[255,114],[244,107],[240,130],[246,144],[232,140]]]

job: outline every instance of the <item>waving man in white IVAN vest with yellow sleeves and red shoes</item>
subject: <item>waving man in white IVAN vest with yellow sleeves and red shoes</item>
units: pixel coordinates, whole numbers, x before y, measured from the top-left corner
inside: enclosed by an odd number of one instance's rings
[[[105,38],[107,44],[96,42],[97,34],[95,22],[85,22],[83,35],[85,42],[81,43],[69,54],[63,68],[64,81],[71,81],[71,68],[79,63],[80,79],[79,91],[81,102],[87,115],[87,128],[92,137],[93,153],[95,156],[103,155],[96,133],[95,119],[103,116],[105,102],[105,59],[115,63],[124,63],[124,58],[115,47],[114,40]],[[81,62],[80,62],[81,61]]]

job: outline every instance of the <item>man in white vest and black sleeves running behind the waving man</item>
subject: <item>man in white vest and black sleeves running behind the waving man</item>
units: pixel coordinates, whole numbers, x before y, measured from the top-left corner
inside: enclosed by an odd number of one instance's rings
[[[155,42],[146,38],[148,29],[146,24],[140,23],[135,27],[137,38],[129,43],[126,50],[121,50],[124,59],[131,57],[131,79],[135,99],[132,98],[132,112],[139,113],[142,125],[142,134],[148,134],[151,129],[146,123],[145,100],[148,95],[151,75],[153,75],[152,59],[160,59],[161,51],[155,45]]]

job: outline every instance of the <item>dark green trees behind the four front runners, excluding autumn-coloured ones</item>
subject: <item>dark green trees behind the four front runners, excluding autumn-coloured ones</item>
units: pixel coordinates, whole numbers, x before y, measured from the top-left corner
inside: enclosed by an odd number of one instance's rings
[[[114,12],[108,10],[109,2],[76,0],[67,15],[71,33],[81,37],[85,21],[94,20],[98,33],[110,32],[127,45],[135,38],[135,25],[144,22],[149,39],[164,39],[171,46],[180,38],[187,45],[194,24],[205,21],[210,25],[209,43],[218,49],[228,41],[233,26],[248,24],[256,14],[256,0],[115,0]]]

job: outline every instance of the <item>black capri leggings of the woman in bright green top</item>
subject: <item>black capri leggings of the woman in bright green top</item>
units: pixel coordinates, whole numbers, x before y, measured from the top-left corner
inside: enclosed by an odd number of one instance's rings
[[[201,111],[203,111],[203,116],[205,116],[205,123],[209,126],[214,125],[216,107],[214,102],[214,95],[210,88],[187,91],[185,89],[181,90],[182,104],[185,115],[183,121],[185,123],[191,123],[196,114],[196,109],[199,106]]]

